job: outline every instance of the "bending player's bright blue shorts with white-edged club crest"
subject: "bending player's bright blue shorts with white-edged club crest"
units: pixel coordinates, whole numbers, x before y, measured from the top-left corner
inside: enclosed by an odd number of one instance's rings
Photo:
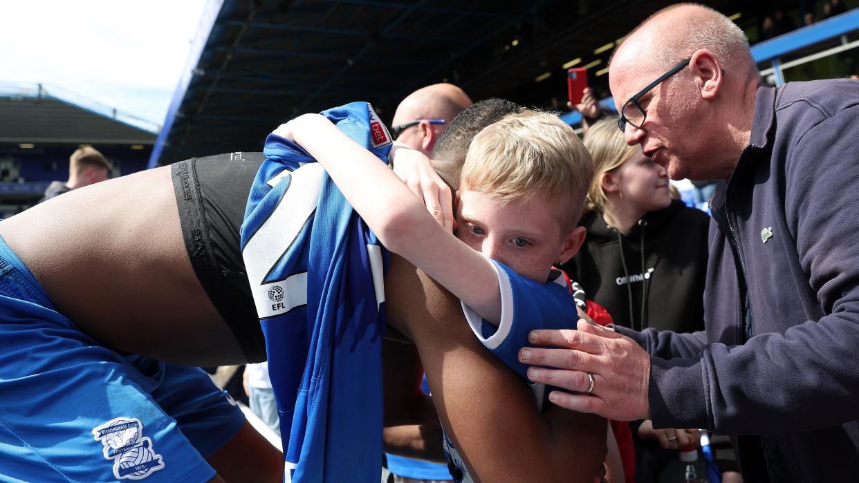
[[[244,423],[204,371],[83,334],[0,238],[0,481],[208,481]]]

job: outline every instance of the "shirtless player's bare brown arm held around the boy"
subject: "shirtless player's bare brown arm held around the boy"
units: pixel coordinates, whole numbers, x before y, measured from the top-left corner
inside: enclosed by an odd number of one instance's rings
[[[391,257],[388,323],[411,337],[442,425],[482,481],[594,481],[606,457],[606,422],[537,408],[526,381],[472,334],[451,293]]]

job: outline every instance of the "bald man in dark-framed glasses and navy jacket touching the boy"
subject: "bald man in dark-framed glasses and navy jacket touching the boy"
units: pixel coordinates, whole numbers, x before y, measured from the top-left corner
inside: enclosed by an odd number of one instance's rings
[[[524,347],[529,377],[578,391],[552,393],[566,408],[733,435],[746,481],[856,480],[859,83],[759,85],[740,28],[688,3],[609,69],[627,143],[671,178],[722,180],[706,331],[535,331],[562,348]]]

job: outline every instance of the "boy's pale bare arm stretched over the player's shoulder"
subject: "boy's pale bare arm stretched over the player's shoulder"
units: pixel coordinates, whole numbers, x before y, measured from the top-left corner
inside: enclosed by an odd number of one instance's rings
[[[389,251],[422,269],[490,323],[498,323],[501,294],[491,262],[445,231],[388,166],[319,114],[295,118],[275,133],[295,140],[325,167]]]

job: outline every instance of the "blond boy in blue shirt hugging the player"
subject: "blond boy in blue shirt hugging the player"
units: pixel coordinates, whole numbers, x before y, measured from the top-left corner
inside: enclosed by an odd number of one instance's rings
[[[454,293],[478,339],[522,377],[527,367],[516,353],[531,329],[575,327],[567,287],[547,280],[551,265],[582,245],[576,221],[593,168],[582,142],[556,116],[513,114],[475,137],[457,193],[455,235],[326,118],[305,115],[275,134],[295,140],[326,168],[382,245]],[[399,151],[397,162],[427,160]],[[541,403],[542,388],[535,392]],[[448,452],[464,469],[453,439]]]

